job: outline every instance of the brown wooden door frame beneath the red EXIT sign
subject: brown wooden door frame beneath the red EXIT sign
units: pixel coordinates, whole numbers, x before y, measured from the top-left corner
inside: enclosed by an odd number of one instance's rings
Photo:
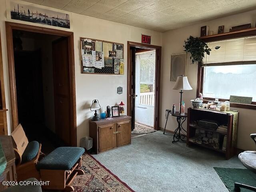
[[[161,74],[161,46],[127,42],[127,115],[132,115],[132,62],[130,62],[130,47],[156,50],[155,70],[155,106],[154,106],[154,129],[159,130],[160,121],[160,74]]]

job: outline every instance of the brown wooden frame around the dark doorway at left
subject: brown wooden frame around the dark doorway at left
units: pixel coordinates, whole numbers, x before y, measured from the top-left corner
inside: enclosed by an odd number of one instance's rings
[[[39,26],[31,26],[26,24],[19,24],[13,22],[5,22],[6,26],[6,42],[8,53],[8,67],[10,79],[10,97],[12,108],[12,130],[18,126],[18,107],[16,95],[16,80],[14,68],[14,50],[12,40],[12,30],[23,30],[29,32],[36,32],[41,34],[58,35],[68,38],[68,52],[69,52],[69,75],[70,75],[70,145],[77,146],[76,142],[76,85],[75,85],[75,62],[74,62],[74,34],[73,32],[56,30],[51,28],[44,28]]]

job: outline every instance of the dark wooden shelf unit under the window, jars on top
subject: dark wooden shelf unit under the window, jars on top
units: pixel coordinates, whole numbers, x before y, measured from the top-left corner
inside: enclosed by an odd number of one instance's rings
[[[194,122],[202,119],[215,120],[220,124],[227,124],[227,133],[218,132],[217,130],[211,130],[207,128],[199,127],[194,124]],[[234,119],[234,115],[230,112],[217,112],[212,110],[204,110],[198,108],[188,108],[188,124],[187,124],[187,146],[198,145],[204,148],[214,150],[225,154],[226,159],[230,159],[236,154],[236,140],[237,140],[237,125],[238,125],[238,114],[237,119]],[[234,122],[236,120],[236,122]],[[209,144],[199,144],[197,142],[192,142],[189,139],[193,138],[196,134],[196,129],[206,130],[208,132],[213,132],[220,134],[221,138],[227,137],[226,151],[221,148],[214,148]],[[221,146],[220,146],[221,147]]]

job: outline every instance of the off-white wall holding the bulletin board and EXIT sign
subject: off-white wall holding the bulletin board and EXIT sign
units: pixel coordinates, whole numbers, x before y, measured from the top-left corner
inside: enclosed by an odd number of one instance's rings
[[[20,1],[21,2],[21,1]],[[26,2],[22,2],[29,4]],[[12,127],[11,108],[10,108],[10,87],[8,75],[8,60],[6,50],[6,32],[5,21],[18,22],[34,26],[43,26],[47,28],[57,28],[31,22],[11,20],[9,16],[10,0],[0,0],[0,32],[2,41],[2,55],[4,67],[4,84],[6,93],[6,108],[8,132]],[[36,5],[38,6],[38,5]],[[38,6],[43,7],[43,6]],[[7,9],[7,10],[6,10]],[[50,8],[48,8],[50,9]],[[52,9],[56,10],[56,9]],[[61,10],[57,10],[64,12]],[[6,12],[8,16],[6,17]],[[74,56],[75,56],[75,76],[76,76],[76,113],[77,113],[77,142],[80,138],[89,135],[89,118],[94,112],[90,111],[90,105],[93,99],[98,99],[102,108],[114,106],[123,101],[126,103],[126,85],[127,85],[127,41],[141,42],[141,34],[151,36],[151,44],[161,46],[162,33],[142,28],[132,27],[124,24],[83,16],[70,13],[70,29],[57,28],[74,32]],[[100,74],[81,74],[80,64],[80,37],[94,38],[111,42],[124,44],[124,75],[100,75]],[[123,94],[116,94],[116,88],[123,87]]]

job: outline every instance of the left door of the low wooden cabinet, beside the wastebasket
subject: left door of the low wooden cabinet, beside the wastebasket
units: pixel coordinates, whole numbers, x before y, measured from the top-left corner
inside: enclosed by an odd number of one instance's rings
[[[99,126],[99,152],[116,147],[116,124]]]

